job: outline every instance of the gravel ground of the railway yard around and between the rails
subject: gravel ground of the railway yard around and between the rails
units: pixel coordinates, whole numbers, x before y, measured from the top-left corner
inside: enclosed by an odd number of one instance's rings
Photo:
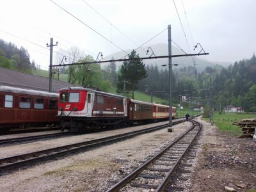
[[[164,190],[246,191],[256,189],[256,144],[250,138],[237,139],[226,136],[214,125],[200,118],[197,121],[202,124],[202,131],[185,156],[180,159],[179,167],[173,170],[175,174],[170,178],[170,182],[164,184]],[[161,128],[166,123],[158,122],[154,125],[146,124],[87,134],[67,134],[52,138],[0,143],[0,161],[2,162],[0,191],[115,191],[113,186],[116,183],[136,171],[142,164],[151,161],[150,159],[158,152],[163,151],[192,126],[191,122],[182,122],[173,125],[173,132],[168,132],[166,128]],[[145,130],[153,126],[160,128],[124,138],[127,132]],[[191,132],[196,132],[198,129],[197,126]],[[53,131],[51,134],[58,132]],[[40,134],[45,133],[3,135],[0,136],[0,140]],[[83,143],[85,148],[79,152],[44,159],[52,153],[47,152],[41,155],[40,160],[3,170],[4,165],[13,163],[4,162],[3,159],[7,157],[92,140],[101,139],[100,142],[106,142],[104,138],[115,135],[122,136],[118,138],[118,142],[108,141],[109,143],[103,143],[102,146],[97,147],[94,144],[88,147],[92,143]],[[193,138],[191,133],[186,137],[189,140]],[[173,144],[173,148],[166,149],[165,154],[154,160],[154,166],[151,164],[146,171],[141,171],[140,178],[136,177],[120,188],[120,191],[155,191],[159,183],[161,184],[164,177],[168,175],[168,170],[175,166],[180,154],[186,150],[189,140],[180,140],[180,143]],[[72,145],[70,148],[76,147]],[[28,159],[35,157],[33,155]],[[26,161],[25,157],[20,159]],[[141,188],[142,183],[143,188]]]

